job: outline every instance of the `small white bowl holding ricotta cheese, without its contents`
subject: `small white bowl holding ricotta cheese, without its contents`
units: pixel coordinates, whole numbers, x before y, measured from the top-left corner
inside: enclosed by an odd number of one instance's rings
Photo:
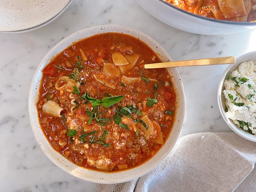
[[[235,132],[237,133],[238,135],[240,135],[241,137],[245,138],[245,139],[248,139],[252,142],[256,142],[256,135],[252,135],[248,132],[246,132],[245,130],[237,127],[235,125],[235,123],[229,119],[227,116],[226,116],[226,113],[225,113],[225,97],[224,97],[224,94],[223,94],[223,90],[224,90],[224,86],[223,86],[223,82],[225,80],[225,77],[226,77],[226,74],[228,72],[232,72],[234,71],[236,68],[238,68],[238,66],[243,63],[243,62],[246,62],[246,61],[250,61],[250,60],[256,60],[256,51],[254,52],[249,52],[249,53],[246,53],[244,55],[241,55],[240,57],[238,57],[236,59],[236,63],[235,64],[230,64],[226,70],[224,71],[221,79],[220,79],[220,82],[219,82],[219,86],[218,86],[218,105],[219,105],[219,110],[220,110],[220,113],[222,114],[222,117],[224,119],[224,121],[226,122],[226,124],[228,124],[228,126]]]

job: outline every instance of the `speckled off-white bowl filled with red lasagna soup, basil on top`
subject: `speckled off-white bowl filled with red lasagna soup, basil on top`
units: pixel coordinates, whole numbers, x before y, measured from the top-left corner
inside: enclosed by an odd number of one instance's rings
[[[96,183],[140,177],[170,153],[182,128],[185,95],[176,68],[154,39],[117,25],[81,30],[38,66],[29,93],[33,133],[71,175]]]

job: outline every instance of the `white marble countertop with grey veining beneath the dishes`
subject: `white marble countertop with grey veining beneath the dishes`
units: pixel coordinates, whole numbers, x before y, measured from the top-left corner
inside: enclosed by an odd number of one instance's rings
[[[0,191],[96,191],[94,183],[67,174],[44,155],[31,129],[28,91],[37,66],[55,44],[76,31],[107,24],[148,34],[173,60],[238,57],[256,50],[256,30],[225,36],[187,33],[156,20],[135,0],[76,0],[42,28],[0,33]],[[186,95],[180,137],[198,132],[231,132],[217,103],[217,87],[226,67],[178,68]]]

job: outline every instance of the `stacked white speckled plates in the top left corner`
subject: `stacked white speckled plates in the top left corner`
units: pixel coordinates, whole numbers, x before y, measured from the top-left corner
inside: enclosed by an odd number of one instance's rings
[[[27,30],[58,15],[71,0],[1,0],[0,31]]]

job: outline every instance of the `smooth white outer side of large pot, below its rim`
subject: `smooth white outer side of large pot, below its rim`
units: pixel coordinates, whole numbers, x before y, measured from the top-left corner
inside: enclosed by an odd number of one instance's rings
[[[231,22],[202,17],[182,10],[165,0],[137,0],[137,2],[153,17],[186,32],[223,35],[256,28],[256,22]]]

